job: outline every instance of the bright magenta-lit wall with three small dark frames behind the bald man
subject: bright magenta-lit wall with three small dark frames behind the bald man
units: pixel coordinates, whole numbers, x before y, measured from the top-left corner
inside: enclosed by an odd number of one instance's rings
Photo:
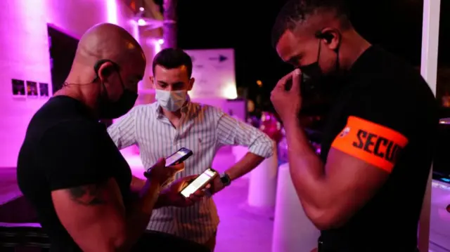
[[[46,83],[52,93],[47,23],[79,38],[99,22],[132,32],[131,15],[122,0],[0,1],[0,168],[15,167],[28,122],[49,99],[27,92],[13,95],[11,80]]]

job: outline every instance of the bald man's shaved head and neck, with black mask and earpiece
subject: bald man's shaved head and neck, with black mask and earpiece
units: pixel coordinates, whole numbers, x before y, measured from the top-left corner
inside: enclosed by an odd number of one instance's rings
[[[98,117],[113,119],[133,107],[146,56],[127,30],[103,23],[83,34],[72,68],[56,95],[82,100]]]

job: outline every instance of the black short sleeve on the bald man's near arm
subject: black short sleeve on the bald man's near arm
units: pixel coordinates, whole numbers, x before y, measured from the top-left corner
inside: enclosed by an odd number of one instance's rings
[[[51,190],[102,182],[110,177],[115,145],[104,126],[77,121],[50,128],[39,142],[39,163]]]

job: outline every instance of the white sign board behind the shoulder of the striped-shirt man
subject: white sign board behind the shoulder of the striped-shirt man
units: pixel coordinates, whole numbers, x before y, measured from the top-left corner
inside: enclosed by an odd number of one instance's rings
[[[186,50],[193,62],[191,98],[236,99],[233,49]]]

